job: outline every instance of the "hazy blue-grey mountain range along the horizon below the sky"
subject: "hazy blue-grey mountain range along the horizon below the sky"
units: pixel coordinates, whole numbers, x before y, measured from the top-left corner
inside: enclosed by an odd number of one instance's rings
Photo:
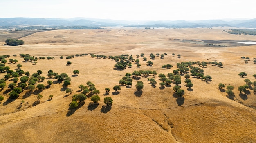
[[[243,27],[256,28],[256,18],[250,20],[110,20],[96,18],[0,18],[0,26],[98,26],[98,27],[166,27],[166,28],[194,28],[194,27]]]

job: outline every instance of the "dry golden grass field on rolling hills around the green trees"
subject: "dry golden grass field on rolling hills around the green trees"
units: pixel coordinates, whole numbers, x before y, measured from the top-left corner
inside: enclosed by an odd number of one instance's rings
[[[155,29],[155,30],[54,30],[27,34],[20,38],[25,44],[4,46],[0,42],[0,55],[11,55],[7,58],[17,59],[16,64],[7,62],[11,70],[21,69],[30,74],[42,70],[67,73],[71,77],[73,89],[69,95],[65,87],[56,79],[45,79],[40,84],[47,85],[48,80],[55,81],[50,88],[43,91],[25,88],[15,100],[9,99],[8,84],[0,90],[4,100],[0,103],[0,142],[2,143],[255,143],[256,142],[256,95],[247,89],[247,94],[240,95],[238,86],[245,84],[244,79],[256,81],[255,45],[236,44],[237,41],[255,41],[255,36],[231,35],[223,29]],[[22,31],[21,31],[22,32]],[[0,39],[18,37],[24,33],[0,33]],[[203,44],[202,44],[203,43]],[[210,46],[209,44],[225,45]],[[55,57],[40,59],[37,64],[23,62],[19,54],[30,54],[35,57]],[[115,70],[115,61],[111,59],[92,58],[87,56],[69,59],[66,56],[93,53],[95,55],[129,54],[135,59],[137,54],[144,53],[153,66],[147,66],[143,57],[139,57],[140,67],[132,62],[132,68]],[[149,54],[167,53],[164,58],[150,59]],[[175,53],[175,56],[172,56]],[[12,55],[16,54],[17,57]],[[181,57],[178,58],[177,55]],[[60,59],[64,56],[64,59]],[[250,57],[245,63],[240,57]],[[207,64],[204,75],[210,75],[212,81],[190,77],[193,87],[185,86],[184,75],[181,76],[181,89],[185,90],[183,98],[177,98],[171,86],[151,86],[148,77],[133,79],[132,86],[121,86],[119,94],[112,89],[119,85],[119,80],[135,70],[155,70],[157,74],[173,73],[177,62],[206,61],[222,62],[223,67]],[[162,69],[162,65],[173,65]],[[193,65],[198,66],[198,65]],[[202,66],[200,66],[202,68]],[[73,70],[79,70],[78,76],[72,76]],[[241,78],[240,72],[247,73]],[[0,73],[2,79],[6,73]],[[153,75],[149,76],[152,78]],[[90,98],[76,110],[69,110],[72,96],[81,92],[80,84],[87,81],[95,84],[100,91],[98,105],[90,106]],[[137,94],[135,84],[144,82],[141,94]],[[20,81],[18,81],[20,83]],[[234,86],[234,99],[218,89],[218,84]],[[105,88],[110,88],[109,95]],[[226,88],[223,88],[226,90]],[[37,94],[43,95],[36,105]],[[47,101],[53,95],[51,101]],[[111,97],[111,109],[104,110],[104,97]],[[21,101],[25,101],[21,104]]]

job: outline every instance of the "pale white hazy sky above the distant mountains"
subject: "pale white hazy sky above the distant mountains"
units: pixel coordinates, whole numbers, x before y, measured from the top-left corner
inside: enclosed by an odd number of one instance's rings
[[[256,18],[254,0],[0,0],[0,17],[114,20]]]

